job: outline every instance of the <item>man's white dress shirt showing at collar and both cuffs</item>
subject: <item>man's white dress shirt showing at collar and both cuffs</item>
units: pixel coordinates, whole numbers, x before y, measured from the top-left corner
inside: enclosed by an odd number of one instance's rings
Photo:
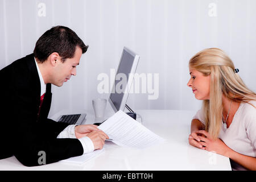
[[[34,59],[35,59],[35,57],[34,57]],[[46,84],[44,83],[43,76],[38,67],[38,63],[36,63],[36,59],[35,59],[35,64],[36,64],[36,69],[38,70],[38,75],[39,75],[40,85],[41,85],[40,96],[43,96],[43,94],[46,93]],[[61,131],[61,133],[57,136],[57,138],[76,138],[76,134],[75,134],[76,126],[77,125],[67,126],[63,131]],[[89,137],[79,138],[79,141],[81,142],[82,148],[84,149],[84,154],[88,154],[88,153],[94,151],[93,142]]]

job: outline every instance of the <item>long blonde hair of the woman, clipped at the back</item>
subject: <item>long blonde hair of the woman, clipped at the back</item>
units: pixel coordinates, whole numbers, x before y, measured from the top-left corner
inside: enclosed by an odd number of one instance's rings
[[[189,68],[196,69],[205,76],[210,75],[210,99],[203,101],[205,130],[217,138],[222,121],[222,94],[234,102],[256,100],[256,94],[243,83],[234,72],[233,61],[224,51],[208,48],[196,53],[189,60]],[[255,107],[255,106],[254,106]]]

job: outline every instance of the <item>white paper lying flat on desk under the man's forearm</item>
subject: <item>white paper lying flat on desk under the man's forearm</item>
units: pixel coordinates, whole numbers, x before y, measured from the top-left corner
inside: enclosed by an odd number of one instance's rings
[[[92,159],[95,156],[101,154],[101,152],[103,152],[103,151],[104,151],[104,148],[102,148],[101,150],[94,150],[93,152],[91,152],[89,154],[83,154],[83,155],[76,156],[73,158],[60,160],[60,162],[82,164],[82,163],[85,163],[86,161],[88,161],[89,159]]]

